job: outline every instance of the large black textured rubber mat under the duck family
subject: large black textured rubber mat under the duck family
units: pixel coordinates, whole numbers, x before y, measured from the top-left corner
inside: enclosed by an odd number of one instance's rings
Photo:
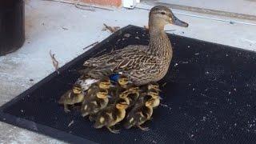
[[[136,26],[119,30],[63,66],[59,75],[50,74],[6,103],[1,120],[72,143],[255,143],[256,54],[177,35],[170,38],[174,58],[160,82],[162,106],[145,125],[150,131],[95,130],[78,110],[66,114],[57,103],[78,78],[74,70],[84,60],[128,45],[146,45],[148,33]]]

